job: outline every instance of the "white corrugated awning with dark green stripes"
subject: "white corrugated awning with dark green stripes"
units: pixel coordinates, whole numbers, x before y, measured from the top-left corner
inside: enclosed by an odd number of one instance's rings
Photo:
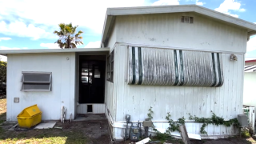
[[[129,47],[128,84],[222,86],[222,55],[192,50]]]

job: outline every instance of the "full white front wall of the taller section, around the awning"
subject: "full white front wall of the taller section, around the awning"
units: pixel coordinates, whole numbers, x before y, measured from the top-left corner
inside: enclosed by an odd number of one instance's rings
[[[194,24],[181,23],[182,15],[193,16]],[[114,83],[106,84],[110,85],[106,88],[109,98],[106,103],[112,102],[109,105],[114,138],[122,139],[126,114],[131,115],[131,121],[143,121],[150,106],[154,111],[153,121],[160,121],[154,125],[162,130],[168,126],[165,119],[168,112],[174,120],[183,116],[188,120],[189,114],[209,118],[211,111],[226,120],[242,114],[246,30],[194,13],[118,16],[115,26],[118,28]],[[220,52],[224,84],[221,87],[128,85],[128,46]],[[230,54],[236,54],[238,61],[230,61]],[[201,125],[187,122],[186,128],[190,134],[200,134]],[[207,126],[206,131],[209,136],[235,133],[233,127],[225,126]]]

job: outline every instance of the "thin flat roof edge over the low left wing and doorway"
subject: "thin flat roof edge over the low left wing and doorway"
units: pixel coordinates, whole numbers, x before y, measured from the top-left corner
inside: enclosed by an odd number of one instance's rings
[[[109,54],[109,48],[78,48],[78,49],[33,49],[33,50],[0,50],[0,55],[7,54],[42,54],[42,53],[90,53]]]

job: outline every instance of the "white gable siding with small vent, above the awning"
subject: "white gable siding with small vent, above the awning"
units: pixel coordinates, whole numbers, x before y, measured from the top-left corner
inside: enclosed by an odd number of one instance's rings
[[[194,23],[182,23],[182,16]],[[194,13],[118,16],[117,42],[182,49],[246,52],[247,30]]]

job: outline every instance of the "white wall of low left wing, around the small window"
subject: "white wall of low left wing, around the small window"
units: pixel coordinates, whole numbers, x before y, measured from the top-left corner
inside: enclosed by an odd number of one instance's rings
[[[52,72],[51,91],[21,91],[22,71]],[[37,104],[42,120],[60,119],[62,106],[66,118],[74,118],[75,54],[8,54],[7,67],[7,121],[17,121],[17,115],[26,107]],[[14,98],[20,102],[15,103]]]

